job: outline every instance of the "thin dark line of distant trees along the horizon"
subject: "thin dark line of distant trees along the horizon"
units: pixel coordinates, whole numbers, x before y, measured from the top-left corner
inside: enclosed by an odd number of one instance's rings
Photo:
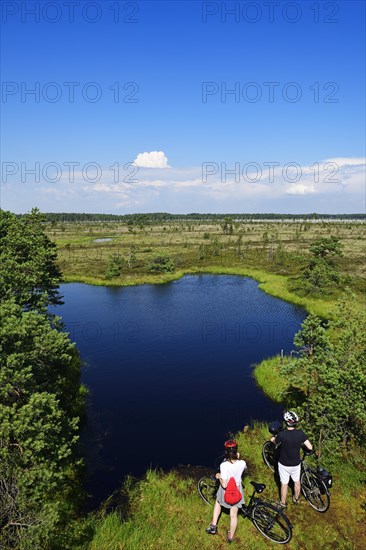
[[[21,215],[20,215],[21,216]],[[241,214],[169,214],[167,212],[152,212],[147,214],[87,214],[80,212],[49,212],[45,214],[48,222],[125,222],[127,224],[141,225],[148,223],[164,223],[174,221],[213,221],[222,222],[225,219],[233,221],[257,221],[257,220],[357,220],[366,221],[365,214],[276,214],[276,213],[241,213]]]

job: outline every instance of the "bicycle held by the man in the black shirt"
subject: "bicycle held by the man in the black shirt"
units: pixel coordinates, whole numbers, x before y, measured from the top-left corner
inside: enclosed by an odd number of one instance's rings
[[[283,428],[281,425],[273,427],[273,424],[270,425],[270,432],[272,435],[276,435]],[[278,447],[272,441],[266,441],[262,447],[263,460],[272,472],[275,472],[277,467]],[[312,453],[313,451],[303,449],[300,474],[301,492],[314,510],[324,513],[330,506],[329,489],[332,487],[333,480],[332,475],[321,466],[312,468],[307,464],[305,457]]]

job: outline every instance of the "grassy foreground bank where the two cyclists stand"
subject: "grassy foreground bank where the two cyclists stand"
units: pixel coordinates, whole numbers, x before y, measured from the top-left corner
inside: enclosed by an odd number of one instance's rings
[[[278,500],[273,475],[261,458],[261,447],[268,435],[266,426],[259,424],[246,433],[238,434],[239,450],[248,464],[244,486],[248,495],[251,492],[250,480],[266,483],[264,496]],[[350,470],[349,464],[346,467]],[[343,476],[341,461],[338,467],[333,467],[334,488],[331,507],[326,514],[319,514],[303,499],[297,507],[290,504],[288,499],[287,515],[294,526],[294,535],[286,548],[365,547],[366,534],[362,527],[362,517],[366,489],[361,481],[362,464],[358,468],[352,466],[352,474]],[[127,490],[128,504],[93,518],[90,523],[93,536],[87,548],[226,548],[225,533],[229,526],[226,514],[220,519],[217,536],[209,536],[204,532],[210,523],[212,508],[200,499],[196,485],[199,477],[206,473],[207,470],[192,466],[165,474],[148,472],[145,480]],[[273,544],[264,539],[248,519],[240,517],[235,546],[260,550],[272,547]]]

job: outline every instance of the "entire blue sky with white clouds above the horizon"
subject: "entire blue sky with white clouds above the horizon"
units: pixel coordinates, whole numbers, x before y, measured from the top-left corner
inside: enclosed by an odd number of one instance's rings
[[[2,31],[2,208],[365,208],[364,2],[4,1]]]

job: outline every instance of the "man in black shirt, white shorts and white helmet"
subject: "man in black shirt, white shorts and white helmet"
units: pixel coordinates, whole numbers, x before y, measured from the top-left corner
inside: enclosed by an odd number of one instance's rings
[[[294,495],[292,497],[295,504],[300,498],[300,470],[301,459],[300,449],[305,445],[309,451],[313,446],[302,430],[297,430],[296,425],[299,417],[293,411],[285,412],[283,419],[286,422],[286,430],[279,432],[271,441],[279,447],[278,473],[281,480],[281,505],[286,506],[287,490],[290,477],[294,482]]]

